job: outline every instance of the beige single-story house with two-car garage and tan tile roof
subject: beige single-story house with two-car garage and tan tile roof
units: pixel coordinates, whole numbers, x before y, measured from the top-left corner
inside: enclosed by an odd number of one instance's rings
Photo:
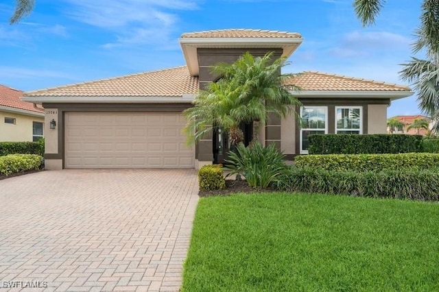
[[[249,51],[263,56],[289,57],[300,45],[300,34],[257,29],[225,29],[182,34],[179,39],[187,66],[127,75],[95,82],[33,91],[25,101],[42,104],[47,169],[198,168],[222,162],[227,136],[204,137],[187,147],[182,110],[191,107],[198,89],[217,76],[211,66],[234,62]],[[308,135],[314,133],[374,134],[386,132],[390,101],[412,95],[410,88],[320,72],[304,72],[285,85],[302,101],[294,116],[271,117],[261,129],[262,143],[274,143],[293,160],[307,153]],[[251,127],[243,127],[247,139]]]

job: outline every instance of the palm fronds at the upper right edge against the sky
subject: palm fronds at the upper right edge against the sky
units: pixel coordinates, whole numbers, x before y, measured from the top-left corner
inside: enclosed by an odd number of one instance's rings
[[[375,23],[385,0],[355,0],[355,12],[364,25]],[[419,108],[433,117],[439,132],[439,0],[423,0],[420,27],[415,31],[413,52],[425,51],[427,60],[413,58],[403,64],[401,78],[414,85]]]

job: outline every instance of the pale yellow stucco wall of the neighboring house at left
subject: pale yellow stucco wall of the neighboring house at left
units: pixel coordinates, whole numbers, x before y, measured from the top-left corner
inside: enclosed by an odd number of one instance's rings
[[[16,119],[15,125],[5,123],[5,117]],[[44,117],[0,111],[0,142],[32,141],[32,122],[43,123]],[[43,134],[45,134],[43,130]]]

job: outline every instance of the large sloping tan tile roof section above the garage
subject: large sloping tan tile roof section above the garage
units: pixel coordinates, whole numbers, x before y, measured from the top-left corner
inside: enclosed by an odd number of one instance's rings
[[[187,66],[47,88],[27,97],[180,97],[198,90],[198,77]]]

